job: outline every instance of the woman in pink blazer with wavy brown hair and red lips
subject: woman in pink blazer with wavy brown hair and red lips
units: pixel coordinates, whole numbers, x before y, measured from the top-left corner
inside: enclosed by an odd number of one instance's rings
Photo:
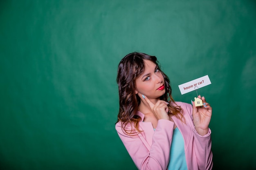
[[[157,58],[130,53],[119,63],[116,130],[139,170],[212,168],[211,106],[174,102]]]

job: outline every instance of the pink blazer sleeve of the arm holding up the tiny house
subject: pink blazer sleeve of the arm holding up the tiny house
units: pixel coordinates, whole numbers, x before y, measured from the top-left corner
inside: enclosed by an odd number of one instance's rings
[[[187,111],[190,114],[192,124],[193,124],[193,116],[192,116],[193,107],[191,104],[186,104],[185,107],[187,108]],[[209,128],[208,134],[201,136],[195,130],[194,124],[192,128],[193,128],[193,150],[197,158],[198,169],[211,170],[213,167],[213,154],[211,151],[211,130]]]

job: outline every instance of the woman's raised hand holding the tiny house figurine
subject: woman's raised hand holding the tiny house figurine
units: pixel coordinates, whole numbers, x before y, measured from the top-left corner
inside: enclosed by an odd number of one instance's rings
[[[201,99],[199,95],[198,98]],[[208,133],[209,124],[211,121],[211,113],[212,108],[209,103],[206,102],[205,98],[202,97],[203,106],[195,106],[195,103],[192,101],[193,104],[193,123],[195,125],[195,130],[198,132],[199,135],[204,136]]]

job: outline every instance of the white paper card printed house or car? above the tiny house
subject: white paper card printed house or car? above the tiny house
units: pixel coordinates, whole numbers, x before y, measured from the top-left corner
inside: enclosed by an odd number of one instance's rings
[[[184,84],[180,84],[180,93],[184,95],[185,93],[189,93],[191,91],[197,90],[198,88],[204,87],[211,84],[211,80],[208,75],[200,77],[198,79],[194,79],[190,82],[186,82]]]

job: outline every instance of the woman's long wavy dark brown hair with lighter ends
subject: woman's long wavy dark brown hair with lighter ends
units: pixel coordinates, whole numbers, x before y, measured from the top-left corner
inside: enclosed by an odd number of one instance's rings
[[[127,124],[134,124],[137,132],[141,132],[138,127],[138,122],[141,120],[141,117],[136,115],[141,100],[139,96],[135,94],[135,79],[144,72],[144,60],[150,60],[159,67],[157,57],[147,55],[145,53],[134,52],[126,55],[120,61],[117,71],[117,84],[119,92],[119,113],[117,116],[117,122],[121,121],[122,129],[130,135],[133,134],[133,129],[127,130]],[[171,96],[172,90],[170,80],[168,76],[162,72],[160,67],[159,71],[164,76],[165,82],[165,93],[160,97],[160,99],[169,102],[170,105],[168,105],[168,108],[170,112],[182,121],[182,108],[175,104],[175,101]]]

